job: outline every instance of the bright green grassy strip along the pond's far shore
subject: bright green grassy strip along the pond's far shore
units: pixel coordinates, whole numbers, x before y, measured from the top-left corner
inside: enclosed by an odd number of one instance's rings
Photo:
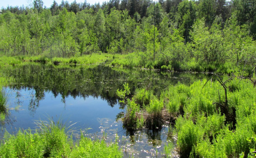
[[[192,72],[215,72],[221,74],[235,74],[236,76],[253,76],[255,68],[253,65],[245,63],[215,63],[196,61],[194,58],[188,62],[177,62],[176,60],[168,63],[161,58],[155,60],[148,59],[142,52],[129,54],[109,54],[92,53],[92,55],[82,55],[74,57],[53,57],[45,56],[1,56],[0,66],[17,65],[27,62],[40,62],[54,65],[111,65],[121,68],[146,68],[159,69],[161,71],[192,71]]]

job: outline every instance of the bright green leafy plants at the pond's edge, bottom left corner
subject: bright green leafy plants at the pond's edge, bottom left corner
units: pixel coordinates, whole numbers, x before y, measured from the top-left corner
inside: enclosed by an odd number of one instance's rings
[[[38,128],[19,130],[16,135],[7,131],[0,144],[1,158],[122,158],[117,143],[81,137],[72,139],[70,128],[60,121],[37,121]]]

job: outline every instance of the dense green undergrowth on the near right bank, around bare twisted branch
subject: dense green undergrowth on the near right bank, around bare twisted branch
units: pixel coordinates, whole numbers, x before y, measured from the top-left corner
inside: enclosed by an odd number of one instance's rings
[[[145,89],[127,100],[128,130],[161,129],[175,122],[181,158],[253,158],[256,150],[256,88],[236,77],[170,86],[158,98]]]

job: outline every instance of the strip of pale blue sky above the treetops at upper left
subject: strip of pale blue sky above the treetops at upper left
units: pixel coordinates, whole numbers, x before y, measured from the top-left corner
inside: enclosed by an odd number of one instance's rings
[[[44,6],[50,7],[53,4],[53,1],[54,0],[43,0]],[[58,4],[60,4],[62,0],[55,0],[55,1]],[[64,1],[68,1],[70,4],[74,0],[64,0]],[[108,0],[86,0],[86,1],[87,1],[87,3],[95,4],[95,2],[101,3],[103,1],[108,1]],[[84,0],[76,0],[76,2],[80,3],[80,2],[84,2]],[[2,7],[6,8],[8,5],[9,6],[22,6],[22,5],[30,6],[32,3],[33,3],[33,0],[0,0],[0,8],[2,8]]]

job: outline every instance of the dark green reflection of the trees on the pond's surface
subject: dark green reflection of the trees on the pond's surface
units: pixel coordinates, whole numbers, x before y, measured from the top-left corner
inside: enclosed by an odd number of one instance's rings
[[[122,89],[127,82],[130,86],[131,95],[136,88],[144,87],[154,90],[155,94],[178,82],[190,84],[195,79],[205,77],[205,74],[155,72],[138,69],[113,69],[99,65],[92,68],[84,67],[61,67],[43,64],[28,64],[23,66],[5,68],[2,74],[13,77],[14,83],[10,88],[20,90],[32,88],[35,94],[31,94],[31,111],[39,106],[39,101],[44,99],[45,92],[51,91],[55,97],[65,98],[72,96],[86,98],[93,96],[108,102],[114,106],[118,103],[117,89]]]

